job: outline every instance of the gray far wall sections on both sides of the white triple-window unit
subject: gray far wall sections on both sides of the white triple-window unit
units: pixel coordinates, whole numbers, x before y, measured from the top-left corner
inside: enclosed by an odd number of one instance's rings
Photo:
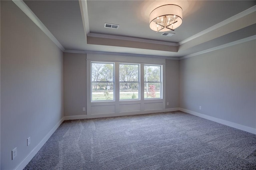
[[[86,115],[86,54],[64,53],[64,115]],[[179,61],[166,59],[166,108],[179,107]]]

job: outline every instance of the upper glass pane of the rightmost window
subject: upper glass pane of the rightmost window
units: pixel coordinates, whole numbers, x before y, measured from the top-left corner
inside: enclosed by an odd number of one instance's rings
[[[144,65],[144,81],[161,82],[161,66]]]

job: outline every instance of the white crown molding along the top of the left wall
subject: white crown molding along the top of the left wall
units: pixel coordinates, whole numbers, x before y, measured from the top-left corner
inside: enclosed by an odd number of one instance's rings
[[[60,42],[52,35],[52,33],[44,26],[44,24],[37,18],[37,16],[28,8],[28,6],[22,0],[12,0],[14,4],[16,4],[27,16],[32,20],[36,26],[38,26],[46,36],[52,40],[62,51],[64,51],[64,47],[60,44]]]

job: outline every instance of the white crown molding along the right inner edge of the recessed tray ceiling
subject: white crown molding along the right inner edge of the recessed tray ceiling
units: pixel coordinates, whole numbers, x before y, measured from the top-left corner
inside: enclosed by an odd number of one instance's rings
[[[244,16],[246,16],[248,14],[251,14],[252,12],[255,12],[255,11],[256,11],[256,5],[252,6],[251,8],[248,8],[247,10],[244,10],[244,11],[242,11],[242,12],[240,12],[240,13],[238,13],[238,14],[236,14],[236,15],[234,15],[234,16],[232,16],[232,17],[230,17],[230,18],[228,18],[228,19],[226,19],[226,20],[224,20],[224,21],[214,25],[214,26],[211,26],[210,28],[207,28],[206,30],[204,30],[202,32],[199,32],[198,34],[195,34],[194,36],[191,36],[191,37],[189,37],[189,38],[179,42],[178,45],[182,45],[182,44],[184,44],[186,42],[194,40],[195,38],[198,38],[198,37],[200,37],[200,36],[202,36],[204,34],[207,34],[208,32],[216,30],[217,28],[220,28],[220,27],[222,27],[222,26],[224,26],[226,24],[229,24],[230,22],[238,20],[239,18],[242,18],[242,17],[244,17]]]

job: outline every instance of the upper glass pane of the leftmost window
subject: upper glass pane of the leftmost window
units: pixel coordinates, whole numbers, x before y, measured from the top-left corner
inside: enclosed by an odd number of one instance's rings
[[[92,81],[114,81],[114,63],[92,63]]]

